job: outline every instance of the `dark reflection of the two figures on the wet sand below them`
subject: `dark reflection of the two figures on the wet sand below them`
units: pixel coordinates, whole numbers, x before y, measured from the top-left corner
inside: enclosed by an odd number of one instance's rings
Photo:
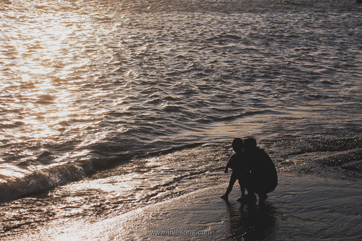
[[[276,208],[272,203],[262,200],[250,205],[239,206],[230,202],[227,205],[230,214],[229,240],[263,240],[271,237],[277,222]]]

